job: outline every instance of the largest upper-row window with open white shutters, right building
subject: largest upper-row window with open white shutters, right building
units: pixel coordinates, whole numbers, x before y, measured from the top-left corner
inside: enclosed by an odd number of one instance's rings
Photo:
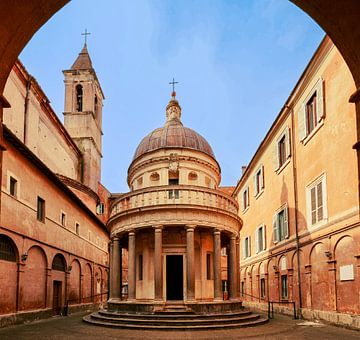
[[[319,79],[305,98],[299,112],[300,141],[312,135],[321,126],[324,117],[323,80]]]

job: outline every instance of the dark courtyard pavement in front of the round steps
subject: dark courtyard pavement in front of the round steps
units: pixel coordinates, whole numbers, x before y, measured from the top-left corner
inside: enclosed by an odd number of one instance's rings
[[[86,313],[56,317],[0,329],[0,339],[360,339],[360,331],[305,320],[275,316],[269,323],[250,328],[213,331],[134,331],[92,326],[82,322]]]

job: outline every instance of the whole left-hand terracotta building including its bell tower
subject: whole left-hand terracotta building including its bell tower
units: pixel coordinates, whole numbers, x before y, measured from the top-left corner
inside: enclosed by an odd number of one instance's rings
[[[64,125],[20,61],[5,87],[0,326],[107,299],[104,95],[86,46],[64,75]]]

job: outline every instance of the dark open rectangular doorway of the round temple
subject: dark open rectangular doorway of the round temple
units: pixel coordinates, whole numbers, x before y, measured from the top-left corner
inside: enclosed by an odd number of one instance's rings
[[[166,256],[166,300],[183,300],[183,256]]]

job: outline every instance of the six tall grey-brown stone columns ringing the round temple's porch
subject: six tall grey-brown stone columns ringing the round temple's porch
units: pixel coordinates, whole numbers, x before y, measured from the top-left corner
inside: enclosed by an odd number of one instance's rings
[[[155,301],[163,301],[163,226],[154,226],[154,296]],[[195,301],[195,244],[196,225],[186,229],[186,301]],[[239,241],[235,234],[230,236],[228,253],[228,292],[230,300],[239,297],[238,267]],[[110,243],[110,299],[121,299],[122,250],[120,239],[113,237]],[[214,301],[223,300],[221,280],[221,230],[213,229],[213,278]],[[128,301],[136,300],[136,234],[128,231]]]

